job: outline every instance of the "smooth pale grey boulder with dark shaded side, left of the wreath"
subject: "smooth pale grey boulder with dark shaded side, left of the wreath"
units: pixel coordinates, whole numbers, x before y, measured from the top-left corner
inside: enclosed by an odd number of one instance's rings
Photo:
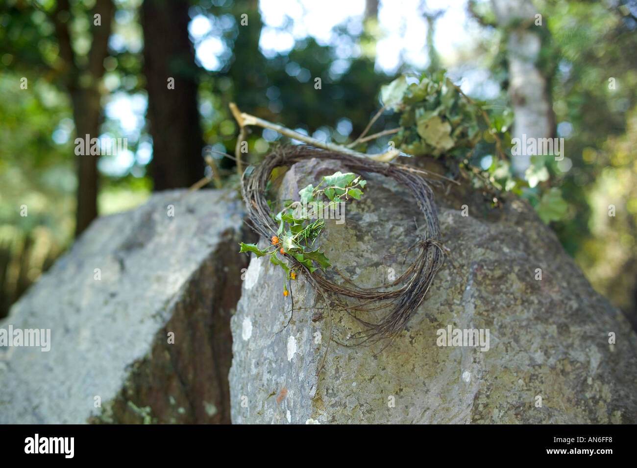
[[[241,216],[179,190],[92,223],[0,322],[50,329],[50,351],[0,347],[0,423],[229,423]]]

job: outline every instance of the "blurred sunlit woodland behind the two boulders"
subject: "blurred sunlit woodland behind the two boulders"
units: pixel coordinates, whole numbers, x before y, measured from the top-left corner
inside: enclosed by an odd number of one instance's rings
[[[564,138],[560,161],[501,164],[483,129],[471,162],[525,178],[523,196],[635,326],[636,29],[637,1],[624,0],[5,0],[0,317],[96,216],[210,176],[205,155],[233,187],[233,160],[210,151],[234,153],[229,103],[346,143],[382,107],[382,85],[446,69],[507,145],[534,125]],[[374,131],[397,125],[387,111]],[[85,134],[127,150],[76,156]],[[256,128],[247,141],[252,162],[287,142]]]

